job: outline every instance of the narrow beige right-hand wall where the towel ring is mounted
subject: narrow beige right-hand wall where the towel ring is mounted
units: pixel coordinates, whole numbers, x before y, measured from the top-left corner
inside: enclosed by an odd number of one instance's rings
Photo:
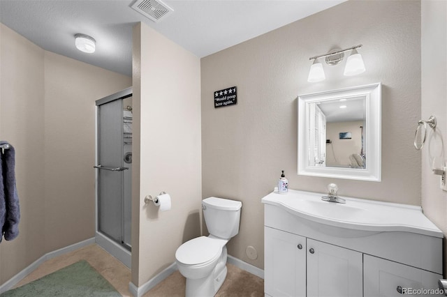
[[[421,14],[421,118],[437,117],[436,132],[430,130],[430,140],[422,149],[422,206],[425,215],[447,235],[447,192],[439,188],[439,176],[432,174],[430,160],[439,156],[441,161],[447,160],[447,2],[424,0]],[[447,275],[445,246],[444,240],[444,276]]]

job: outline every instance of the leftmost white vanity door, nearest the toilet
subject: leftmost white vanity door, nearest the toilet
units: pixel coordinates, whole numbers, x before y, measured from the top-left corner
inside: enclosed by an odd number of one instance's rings
[[[270,296],[306,296],[306,238],[264,227],[264,290]]]

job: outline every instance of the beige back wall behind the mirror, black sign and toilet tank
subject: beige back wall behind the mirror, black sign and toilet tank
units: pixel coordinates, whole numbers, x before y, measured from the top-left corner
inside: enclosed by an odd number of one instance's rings
[[[345,61],[308,83],[310,56],[362,44],[365,73],[344,77]],[[202,59],[203,197],[242,201],[229,254],[263,268],[263,205],[285,170],[292,189],[420,205],[420,1],[347,1]],[[382,181],[297,175],[298,94],[383,84]],[[237,105],[214,109],[213,91],[237,86]],[[406,185],[397,187],[396,185]],[[245,254],[248,245],[258,259]]]

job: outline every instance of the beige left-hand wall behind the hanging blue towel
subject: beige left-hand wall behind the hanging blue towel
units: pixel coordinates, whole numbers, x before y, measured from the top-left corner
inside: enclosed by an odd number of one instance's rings
[[[45,254],[44,50],[0,24],[0,139],[15,147],[19,236],[0,243],[0,284]]]

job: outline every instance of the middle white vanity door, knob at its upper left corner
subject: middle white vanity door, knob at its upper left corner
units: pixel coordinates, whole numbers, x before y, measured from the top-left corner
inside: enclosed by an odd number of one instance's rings
[[[307,296],[363,294],[362,253],[307,238]]]

